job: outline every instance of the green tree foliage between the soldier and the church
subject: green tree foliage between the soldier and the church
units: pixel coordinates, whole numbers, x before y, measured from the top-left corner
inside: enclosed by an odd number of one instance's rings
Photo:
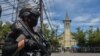
[[[44,36],[49,39],[51,46],[57,48],[60,46],[58,38],[56,38],[56,31],[51,31],[47,24],[44,24]]]

